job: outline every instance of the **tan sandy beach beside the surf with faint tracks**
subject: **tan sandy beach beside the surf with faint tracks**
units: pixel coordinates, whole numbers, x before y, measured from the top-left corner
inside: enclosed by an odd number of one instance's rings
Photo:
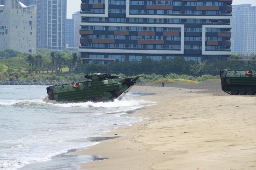
[[[72,154],[110,158],[79,164],[82,170],[255,170],[256,98],[218,89],[135,86],[133,91],[151,94],[141,99],[157,103],[130,116],[148,119]]]

